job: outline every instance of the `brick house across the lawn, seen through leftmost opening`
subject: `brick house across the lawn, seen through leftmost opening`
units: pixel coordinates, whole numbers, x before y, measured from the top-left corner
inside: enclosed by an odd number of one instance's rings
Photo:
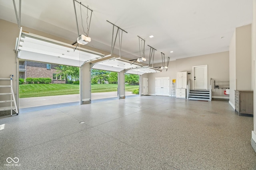
[[[52,83],[66,83],[62,78],[54,76],[58,65],[38,63],[33,61],[20,61],[19,63],[19,78],[51,78]]]

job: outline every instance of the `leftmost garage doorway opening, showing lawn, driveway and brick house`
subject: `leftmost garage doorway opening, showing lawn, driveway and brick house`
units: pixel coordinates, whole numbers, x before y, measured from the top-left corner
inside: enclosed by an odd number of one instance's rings
[[[80,68],[19,60],[19,107],[78,105]]]

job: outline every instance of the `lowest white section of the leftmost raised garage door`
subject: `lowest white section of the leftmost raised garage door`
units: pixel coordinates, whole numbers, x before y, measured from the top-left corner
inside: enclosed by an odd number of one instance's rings
[[[77,60],[66,59],[66,58],[56,57],[51,55],[33,53],[30,51],[20,51],[19,56],[20,56],[20,59],[24,59],[24,60],[38,61],[42,63],[69,65],[69,66],[76,66],[76,67],[80,67],[84,63],[84,61],[77,61]]]

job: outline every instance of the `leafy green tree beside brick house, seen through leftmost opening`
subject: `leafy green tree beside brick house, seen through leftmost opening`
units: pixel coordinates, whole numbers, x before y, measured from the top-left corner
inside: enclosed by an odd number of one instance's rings
[[[58,67],[55,67],[55,69],[57,70],[56,76],[63,76],[66,80],[66,83],[68,82],[68,77],[74,81],[78,81],[80,78],[79,67],[59,65]]]

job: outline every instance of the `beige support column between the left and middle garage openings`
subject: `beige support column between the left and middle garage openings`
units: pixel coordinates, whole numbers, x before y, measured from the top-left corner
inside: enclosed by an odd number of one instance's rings
[[[80,104],[91,103],[91,66],[85,63],[80,67]]]

